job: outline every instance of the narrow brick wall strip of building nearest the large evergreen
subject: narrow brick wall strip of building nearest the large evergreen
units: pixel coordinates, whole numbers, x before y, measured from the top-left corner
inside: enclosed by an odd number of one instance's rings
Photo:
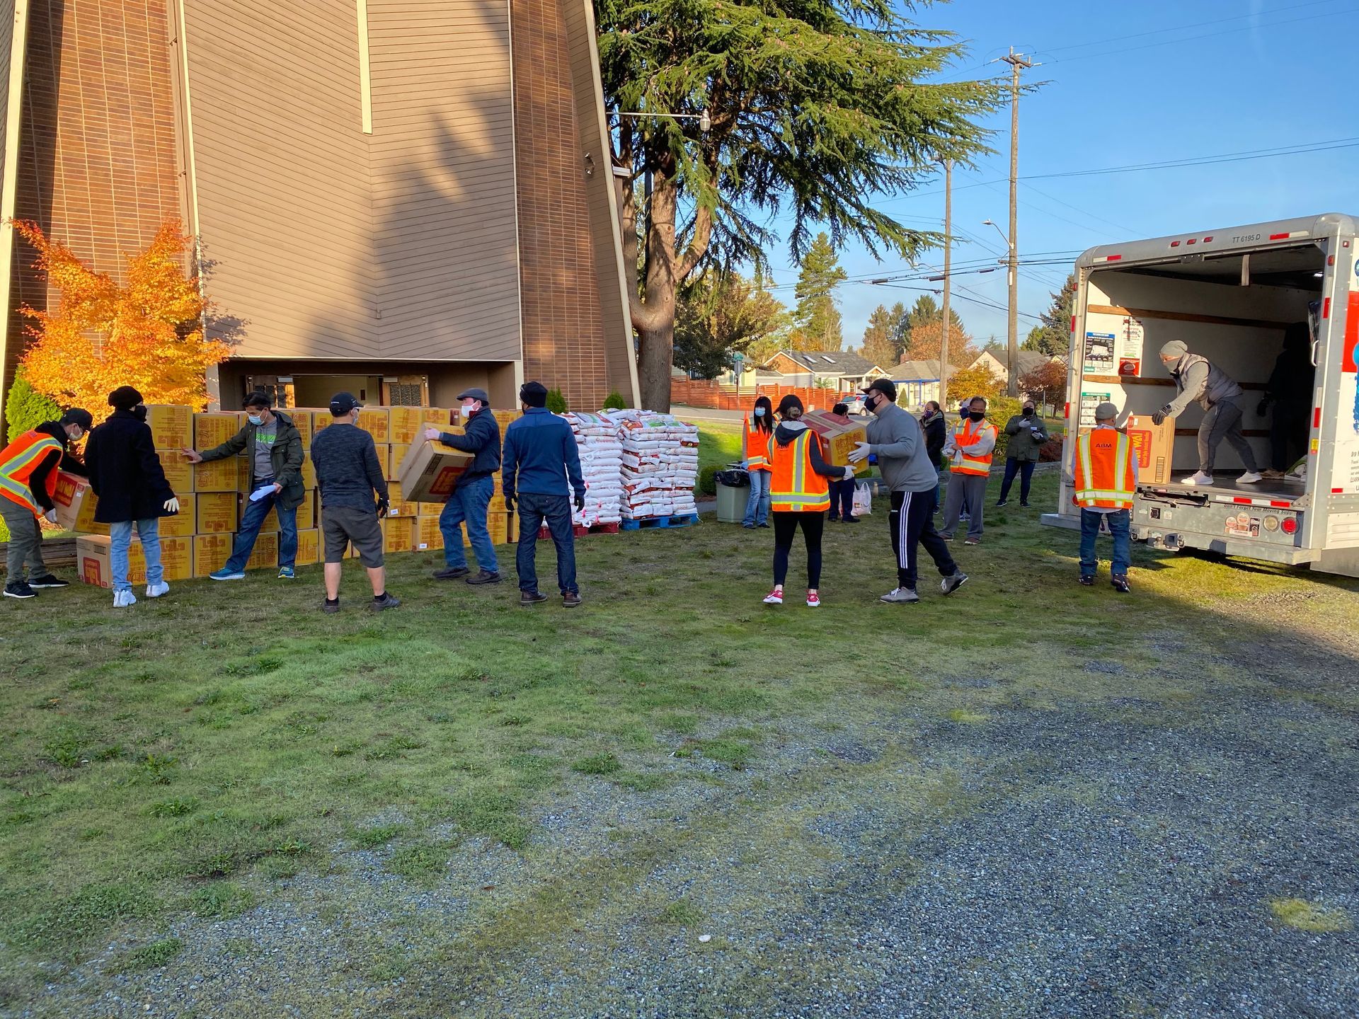
[[[568,0],[569,1],[569,0]],[[523,374],[573,409],[609,395],[594,239],[560,0],[511,0]],[[597,173],[607,173],[595,159]]]

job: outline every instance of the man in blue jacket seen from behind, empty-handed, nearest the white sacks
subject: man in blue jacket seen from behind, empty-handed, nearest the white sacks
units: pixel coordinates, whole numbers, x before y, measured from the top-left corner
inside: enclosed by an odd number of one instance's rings
[[[567,609],[580,605],[576,586],[576,546],[571,529],[571,492],[575,490],[576,510],[586,505],[586,480],[580,474],[580,451],[576,436],[565,418],[548,410],[548,390],[541,382],[526,382],[519,387],[523,417],[506,428],[504,478],[506,508],[519,507],[519,548],[515,565],[519,569],[519,605],[548,601],[538,590],[534,553],[538,530],[548,522],[552,543],[557,546],[557,587]],[[567,478],[571,486],[567,486]]]

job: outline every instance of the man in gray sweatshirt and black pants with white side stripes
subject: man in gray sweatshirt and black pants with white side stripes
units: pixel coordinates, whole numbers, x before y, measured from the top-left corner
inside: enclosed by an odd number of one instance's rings
[[[949,554],[949,546],[934,527],[935,488],[939,474],[930,462],[920,424],[897,406],[897,385],[892,379],[875,379],[864,390],[864,408],[872,413],[868,423],[868,442],[859,443],[849,459],[858,463],[870,454],[878,458],[882,481],[892,492],[892,512],[887,514],[892,550],[897,556],[897,586],[885,594],[883,602],[919,602],[916,594],[916,552],[925,546],[935,561],[940,590],[950,595],[962,587],[968,575]]]

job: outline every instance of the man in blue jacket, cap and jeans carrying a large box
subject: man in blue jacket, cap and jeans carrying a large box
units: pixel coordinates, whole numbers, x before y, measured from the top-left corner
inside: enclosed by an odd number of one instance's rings
[[[434,572],[436,580],[457,580],[467,577],[469,584],[499,584],[500,564],[496,549],[491,543],[487,527],[487,508],[491,496],[496,493],[496,469],[500,466],[500,425],[491,413],[491,397],[484,389],[463,390],[458,399],[462,404],[463,433],[454,435],[439,428],[425,428],[427,442],[442,442],[455,450],[473,454],[472,465],[458,478],[458,486],[439,514],[439,531],[443,534],[443,569]],[[467,538],[477,557],[477,575],[467,576],[467,556],[462,550],[462,529],[467,524]]]

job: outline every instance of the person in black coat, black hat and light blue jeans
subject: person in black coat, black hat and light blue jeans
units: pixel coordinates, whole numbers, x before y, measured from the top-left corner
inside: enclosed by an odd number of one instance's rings
[[[170,592],[160,565],[160,518],[178,514],[179,500],[160,469],[141,394],[120,386],[109,394],[109,406],[113,414],[90,432],[86,465],[90,488],[99,497],[94,519],[109,524],[113,607],[126,609],[137,603],[128,582],[133,524],[147,561],[147,598]]]

